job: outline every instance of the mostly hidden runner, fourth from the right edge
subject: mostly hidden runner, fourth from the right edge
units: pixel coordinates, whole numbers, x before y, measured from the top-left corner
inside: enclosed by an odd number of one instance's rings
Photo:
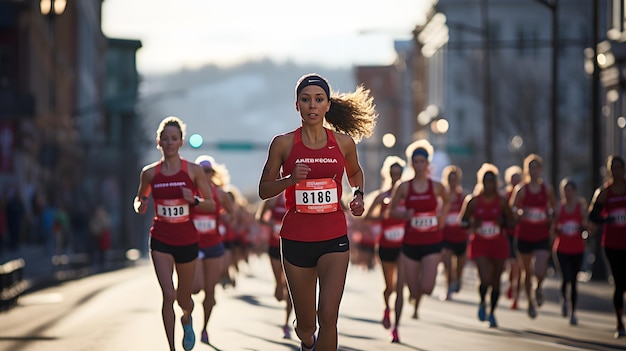
[[[520,166],[510,166],[504,171],[504,181],[506,186],[504,193],[506,199],[511,203],[511,197],[513,197],[513,190],[517,184],[522,182],[522,168]],[[507,260],[507,268],[509,271],[508,281],[509,288],[507,289],[506,296],[513,300],[511,303],[511,309],[517,309],[517,300],[519,299],[520,289],[520,265],[517,258],[517,250],[515,249],[515,228],[506,228],[506,237],[509,240],[509,259]]]

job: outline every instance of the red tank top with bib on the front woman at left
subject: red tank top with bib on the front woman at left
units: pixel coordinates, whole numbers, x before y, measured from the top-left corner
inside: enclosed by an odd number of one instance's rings
[[[150,186],[154,200],[155,216],[150,235],[168,245],[183,246],[198,242],[198,232],[193,225],[193,207],[185,199],[181,188],[196,193],[196,185],[187,173],[187,161],[181,160],[178,173],[163,175],[162,162],[156,165]]]

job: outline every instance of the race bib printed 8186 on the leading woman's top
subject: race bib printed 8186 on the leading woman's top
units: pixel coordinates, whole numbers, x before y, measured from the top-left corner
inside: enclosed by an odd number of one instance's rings
[[[332,178],[305,179],[296,184],[296,211],[330,213],[339,208],[337,183]]]

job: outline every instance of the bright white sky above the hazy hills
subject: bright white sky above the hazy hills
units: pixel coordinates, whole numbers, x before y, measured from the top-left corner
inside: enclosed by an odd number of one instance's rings
[[[269,58],[329,67],[388,65],[432,0],[106,0],[107,37],[138,39],[140,73]]]

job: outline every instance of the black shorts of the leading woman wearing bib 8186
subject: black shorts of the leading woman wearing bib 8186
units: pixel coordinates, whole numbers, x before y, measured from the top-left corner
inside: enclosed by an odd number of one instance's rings
[[[317,260],[324,254],[349,251],[350,241],[347,235],[336,239],[314,242],[280,238],[280,250],[283,258],[292,265],[311,268],[317,266]]]

